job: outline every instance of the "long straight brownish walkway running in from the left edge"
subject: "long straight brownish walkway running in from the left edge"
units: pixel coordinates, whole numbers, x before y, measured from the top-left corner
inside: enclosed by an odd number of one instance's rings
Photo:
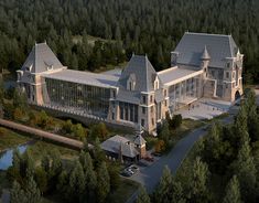
[[[46,132],[46,131],[43,131],[43,130],[40,130],[40,129],[35,129],[35,128],[28,127],[28,126],[24,126],[24,125],[21,125],[21,124],[17,124],[17,122],[13,122],[13,121],[10,121],[10,120],[0,119],[0,126],[11,128],[11,129],[14,129],[14,130],[19,130],[19,131],[23,131],[23,132],[28,132],[28,133],[31,133],[31,135],[35,135],[35,136],[39,136],[41,138],[50,139],[50,140],[56,141],[56,142],[61,142],[61,143],[71,146],[73,148],[83,149],[83,147],[84,147],[84,143],[82,141],[74,140],[74,139],[71,139],[71,138],[66,138],[64,136],[58,136],[58,135],[55,135],[55,133]],[[91,145],[88,145],[88,147],[93,148]]]

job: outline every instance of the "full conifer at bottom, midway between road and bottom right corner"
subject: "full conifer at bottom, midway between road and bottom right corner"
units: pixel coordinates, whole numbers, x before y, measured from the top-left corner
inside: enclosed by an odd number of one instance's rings
[[[190,201],[191,202],[208,202],[209,193],[207,189],[208,167],[199,157],[194,161],[190,182]]]

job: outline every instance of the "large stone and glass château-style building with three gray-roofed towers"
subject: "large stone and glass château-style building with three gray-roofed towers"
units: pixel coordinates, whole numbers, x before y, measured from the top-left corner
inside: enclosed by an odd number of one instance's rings
[[[33,105],[152,132],[168,111],[201,97],[237,99],[242,57],[231,35],[186,32],[170,68],[155,72],[147,56],[132,55],[122,71],[96,74],[68,70],[41,43],[18,71],[18,83]]]

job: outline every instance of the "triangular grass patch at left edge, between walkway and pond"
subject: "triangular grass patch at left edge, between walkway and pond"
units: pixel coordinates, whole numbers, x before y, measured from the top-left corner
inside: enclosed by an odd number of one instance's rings
[[[25,143],[29,140],[29,137],[21,136],[12,130],[0,127],[0,151]]]

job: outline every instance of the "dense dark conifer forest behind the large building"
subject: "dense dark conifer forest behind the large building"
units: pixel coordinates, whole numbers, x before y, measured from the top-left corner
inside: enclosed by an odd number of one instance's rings
[[[35,42],[46,41],[71,68],[117,65],[134,52],[159,71],[192,31],[231,34],[245,54],[245,81],[255,83],[258,24],[258,0],[1,0],[0,66],[14,72]],[[105,40],[90,44],[88,35]]]

